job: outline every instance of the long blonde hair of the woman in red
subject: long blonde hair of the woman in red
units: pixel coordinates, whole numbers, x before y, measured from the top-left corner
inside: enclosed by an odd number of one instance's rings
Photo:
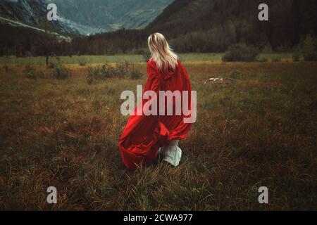
[[[178,66],[178,56],[170,48],[163,34],[151,34],[147,43],[152,59],[159,70],[166,71],[168,68],[175,69]]]

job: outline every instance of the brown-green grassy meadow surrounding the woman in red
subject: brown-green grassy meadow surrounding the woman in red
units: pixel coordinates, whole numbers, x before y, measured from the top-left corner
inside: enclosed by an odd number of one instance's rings
[[[88,85],[76,57],[62,58],[68,80],[26,79],[27,63],[48,70],[44,58],[1,66],[1,210],[317,210],[317,63],[181,55],[198,94],[181,165],[129,172],[117,143],[128,120],[120,94],[146,81],[142,56],[82,57],[129,60],[144,76]],[[204,84],[237,70],[232,82]],[[56,205],[46,203],[49,186],[58,190]],[[258,202],[261,186],[269,204]]]

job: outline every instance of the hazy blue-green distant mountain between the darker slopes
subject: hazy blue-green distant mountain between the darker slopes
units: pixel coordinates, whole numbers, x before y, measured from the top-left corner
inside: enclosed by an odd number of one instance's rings
[[[75,23],[105,30],[118,30],[123,27],[126,29],[146,27],[173,0],[51,0],[51,2],[58,7],[58,13]]]

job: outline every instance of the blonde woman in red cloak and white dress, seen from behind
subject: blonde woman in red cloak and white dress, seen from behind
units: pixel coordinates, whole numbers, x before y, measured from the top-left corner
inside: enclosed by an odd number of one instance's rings
[[[178,56],[170,49],[168,42],[162,34],[151,34],[148,38],[149,50],[152,58],[147,63],[148,79],[144,86],[145,91],[155,91],[159,96],[160,91],[188,91],[188,108],[191,108],[192,86],[185,68],[183,68]],[[150,98],[151,100],[151,98]],[[145,105],[150,100],[142,100]],[[159,99],[161,100],[161,98]],[[173,98],[173,112],[176,104],[184,104]],[[159,108],[158,103],[158,108]],[[141,106],[142,109],[144,106]],[[168,107],[164,107],[166,110]],[[161,110],[161,108],[159,108]],[[185,139],[191,124],[184,122],[184,113],[168,115],[132,115],[126,124],[125,130],[119,139],[120,153],[128,169],[136,169],[141,165],[147,165],[156,160],[159,153],[163,155],[163,161],[173,166],[178,166],[182,150],[178,147],[179,140]]]

